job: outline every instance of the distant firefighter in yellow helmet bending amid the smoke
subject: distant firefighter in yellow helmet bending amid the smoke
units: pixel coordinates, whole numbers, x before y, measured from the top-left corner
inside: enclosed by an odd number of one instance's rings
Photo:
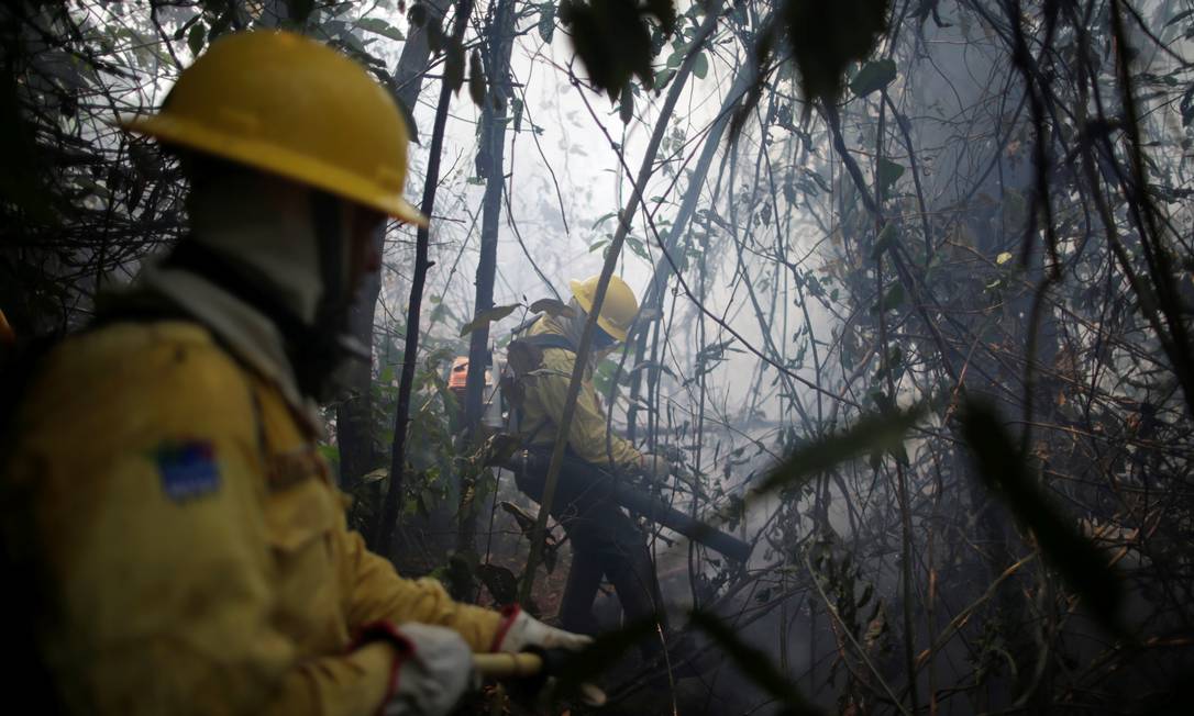
[[[517,339],[534,346],[535,362],[540,364],[519,378],[518,432],[527,436],[529,448],[516,461],[515,473],[518,487],[535,500],[543,493],[577,346],[593,309],[598,279],[593,276],[573,280],[571,315],[544,314],[527,329],[524,338]],[[634,291],[621,278],[611,277],[597,313],[592,365],[626,340],[638,313]],[[645,471],[661,477],[669,469],[663,457],[642,453],[629,440],[609,432],[590,366],[577,399],[552,506],[552,514],[567,531],[573,549],[572,570],[560,604],[565,629],[596,634],[592,605],[603,576],[614,585],[628,619],[654,616],[660,624],[665,623],[646,537],[613,500],[610,487],[618,471]],[[644,644],[647,655],[657,648],[658,641]]]

